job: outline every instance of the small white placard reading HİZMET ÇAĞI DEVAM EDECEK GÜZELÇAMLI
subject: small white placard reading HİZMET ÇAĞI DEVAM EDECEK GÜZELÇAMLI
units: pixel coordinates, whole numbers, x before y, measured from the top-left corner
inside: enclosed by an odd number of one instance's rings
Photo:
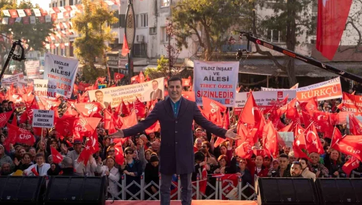
[[[54,126],[54,110],[33,109],[33,127],[52,128]]]

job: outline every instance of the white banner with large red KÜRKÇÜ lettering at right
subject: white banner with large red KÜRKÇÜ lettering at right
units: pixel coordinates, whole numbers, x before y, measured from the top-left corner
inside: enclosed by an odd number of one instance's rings
[[[275,89],[262,87],[262,91],[267,90],[290,90],[290,89]],[[296,90],[296,98],[299,102],[308,100],[309,98],[317,97],[318,101],[342,98],[342,87],[340,78],[335,78],[329,81],[319,82],[317,84],[300,87]]]

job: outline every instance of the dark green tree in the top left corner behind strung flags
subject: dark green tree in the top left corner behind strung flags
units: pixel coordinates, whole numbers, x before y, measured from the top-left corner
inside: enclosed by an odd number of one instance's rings
[[[35,6],[30,2],[30,0],[22,0],[20,4],[17,4],[13,0],[0,0],[1,10],[5,9],[27,9],[27,8],[39,8],[39,5]],[[1,13],[1,18],[4,18]],[[51,29],[53,28],[52,22],[41,23],[38,18],[36,18],[35,24],[23,24],[23,22],[15,22],[12,25],[0,24],[1,33],[6,34],[7,37],[11,37],[13,40],[22,39],[26,41],[25,54],[30,50],[36,50],[40,52],[45,51],[45,38],[52,33]],[[7,55],[9,47],[12,43],[8,39],[5,41],[0,41],[0,55],[1,60],[4,60],[4,55]],[[24,62],[20,63],[21,70],[24,72]]]

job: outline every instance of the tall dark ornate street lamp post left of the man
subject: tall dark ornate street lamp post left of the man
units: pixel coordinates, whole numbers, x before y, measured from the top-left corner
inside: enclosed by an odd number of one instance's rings
[[[131,78],[133,77],[133,63],[132,63],[132,51],[135,42],[136,24],[135,24],[135,11],[133,10],[133,0],[128,0],[127,12],[126,12],[126,26],[124,33],[128,43],[130,52],[128,53],[128,80],[131,84]],[[123,42],[124,43],[124,42]]]

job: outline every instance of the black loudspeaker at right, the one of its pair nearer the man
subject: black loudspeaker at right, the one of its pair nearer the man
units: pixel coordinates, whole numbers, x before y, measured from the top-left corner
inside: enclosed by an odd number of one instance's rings
[[[319,205],[312,179],[257,178],[258,205]]]

